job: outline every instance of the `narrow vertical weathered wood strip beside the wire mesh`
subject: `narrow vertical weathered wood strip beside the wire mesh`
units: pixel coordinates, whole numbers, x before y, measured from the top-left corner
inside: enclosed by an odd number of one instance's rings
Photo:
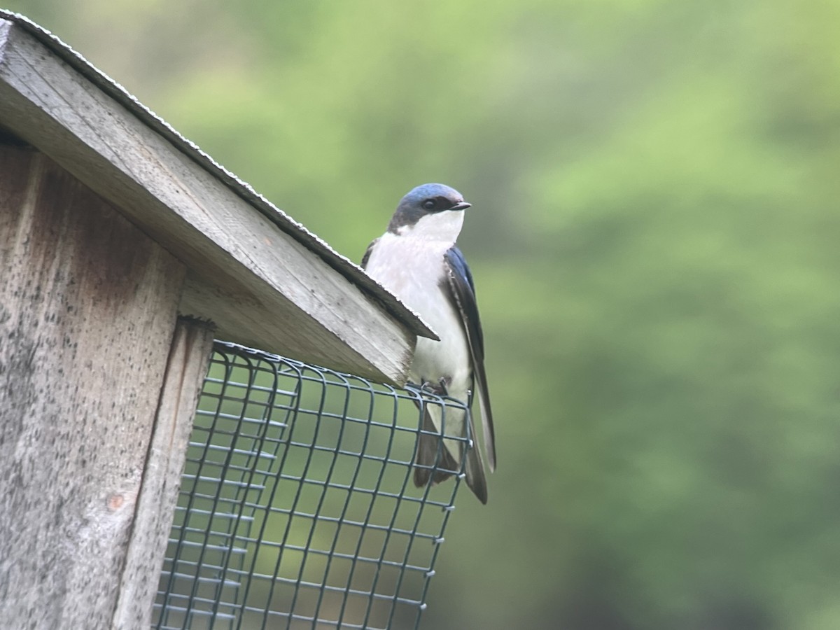
[[[113,628],[148,630],[181,486],[192,417],[213,349],[213,327],[181,318],[166,365],[155,433],[119,585]]]

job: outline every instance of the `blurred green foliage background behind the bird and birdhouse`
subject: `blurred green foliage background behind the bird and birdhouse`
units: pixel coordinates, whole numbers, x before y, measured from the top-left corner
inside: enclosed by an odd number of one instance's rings
[[[7,0],[353,260],[474,204],[423,627],[840,627],[840,2]]]

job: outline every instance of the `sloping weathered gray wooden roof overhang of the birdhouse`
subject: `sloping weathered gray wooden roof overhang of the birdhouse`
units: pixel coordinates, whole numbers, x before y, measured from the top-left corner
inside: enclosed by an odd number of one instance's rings
[[[3,20],[0,121],[182,260],[181,312],[213,319],[220,337],[403,382],[415,334],[432,334],[354,265],[267,204],[257,209],[194,148],[173,146]]]

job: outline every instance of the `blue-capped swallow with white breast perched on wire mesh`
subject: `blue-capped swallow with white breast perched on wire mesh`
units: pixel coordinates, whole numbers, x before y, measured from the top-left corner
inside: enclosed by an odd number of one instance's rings
[[[484,339],[475,303],[470,268],[455,247],[470,204],[443,184],[417,186],[396,207],[388,230],[370,244],[362,266],[382,286],[417,312],[438,333],[440,341],[417,339],[411,379],[438,395],[468,402],[478,398],[482,433],[490,470],[496,468],[496,446],[487,377]],[[437,405],[425,405],[423,432],[417,441],[414,483],[425,486],[445,480],[460,470],[464,442],[435,433],[464,437],[476,433],[471,414]],[[442,425],[444,427],[442,428]],[[478,444],[468,450],[464,465],[467,485],[482,503],[487,482]]]

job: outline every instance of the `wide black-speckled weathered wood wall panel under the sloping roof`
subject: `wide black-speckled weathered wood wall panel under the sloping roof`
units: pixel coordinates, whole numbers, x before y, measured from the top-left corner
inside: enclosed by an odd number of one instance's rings
[[[108,627],[183,265],[0,145],[0,627]]]

